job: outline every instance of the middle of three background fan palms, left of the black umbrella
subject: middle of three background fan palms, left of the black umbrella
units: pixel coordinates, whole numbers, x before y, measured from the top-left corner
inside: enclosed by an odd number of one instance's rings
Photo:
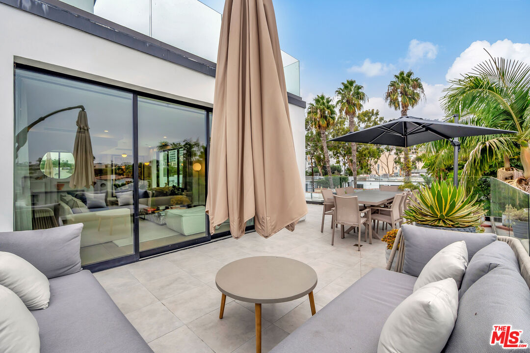
[[[363,92],[364,87],[355,83],[355,80],[346,80],[335,94],[338,96],[336,106],[340,114],[348,117],[351,132],[356,130],[355,117],[363,110],[363,103],[368,101],[368,96]],[[357,143],[351,142],[351,173],[354,176],[354,187],[357,187]]]

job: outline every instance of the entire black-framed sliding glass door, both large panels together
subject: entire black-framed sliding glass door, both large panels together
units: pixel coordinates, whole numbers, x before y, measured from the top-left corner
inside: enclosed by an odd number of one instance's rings
[[[17,66],[14,119],[15,230],[83,223],[90,269],[229,235],[205,214],[211,108]]]

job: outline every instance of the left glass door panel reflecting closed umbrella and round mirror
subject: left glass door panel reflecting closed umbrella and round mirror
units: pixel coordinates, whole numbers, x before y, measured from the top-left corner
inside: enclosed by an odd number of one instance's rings
[[[133,94],[15,71],[14,229],[83,223],[82,265],[134,254]]]

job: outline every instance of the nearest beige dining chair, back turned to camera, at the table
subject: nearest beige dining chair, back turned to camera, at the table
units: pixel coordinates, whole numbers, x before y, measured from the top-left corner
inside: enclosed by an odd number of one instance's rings
[[[359,200],[357,196],[339,196],[333,195],[335,200],[334,219],[331,231],[331,245],[333,245],[335,239],[335,227],[334,224],[340,224],[341,238],[344,238],[344,226],[349,225],[350,227],[357,228],[358,247],[357,250],[361,250],[361,233],[360,226],[365,225],[365,241],[369,235],[370,244],[372,243],[372,228],[370,227],[370,212],[365,212],[363,216],[359,210]]]

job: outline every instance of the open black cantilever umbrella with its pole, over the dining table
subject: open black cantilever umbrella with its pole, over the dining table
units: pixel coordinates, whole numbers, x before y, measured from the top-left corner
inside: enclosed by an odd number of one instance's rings
[[[448,140],[454,147],[453,182],[458,185],[458,150],[459,137],[496,135],[517,133],[517,131],[482,128],[481,126],[458,124],[458,115],[454,115],[455,123],[426,120],[414,116],[402,116],[372,128],[348,132],[329,141],[359,142],[384,144],[387,146],[410,147],[416,144]]]

